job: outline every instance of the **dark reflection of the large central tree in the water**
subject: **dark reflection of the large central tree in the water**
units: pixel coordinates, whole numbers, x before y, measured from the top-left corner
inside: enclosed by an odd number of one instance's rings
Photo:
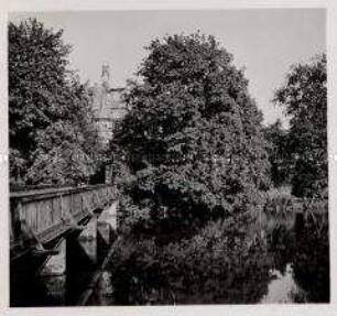
[[[138,237],[139,238],[139,237]],[[154,239],[123,240],[113,260],[115,303],[241,304],[267,293],[270,260],[262,239],[228,236],[221,224],[161,246]]]

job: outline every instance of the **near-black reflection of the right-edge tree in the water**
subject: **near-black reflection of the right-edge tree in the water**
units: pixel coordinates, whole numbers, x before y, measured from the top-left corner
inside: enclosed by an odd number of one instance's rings
[[[317,218],[317,220],[322,220]],[[291,264],[291,274],[297,292],[289,293],[293,303],[329,302],[329,242],[328,225],[308,220],[301,229],[280,225],[270,236],[269,254],[273,269],[284,276]]]

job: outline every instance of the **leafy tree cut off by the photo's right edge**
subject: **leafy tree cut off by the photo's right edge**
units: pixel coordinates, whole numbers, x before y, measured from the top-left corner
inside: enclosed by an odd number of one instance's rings
[[[326,56],[294,65],[275,102],[290,120],[289,150],[294,161],[292,189],[296,196],[314,196],[328,185]]]

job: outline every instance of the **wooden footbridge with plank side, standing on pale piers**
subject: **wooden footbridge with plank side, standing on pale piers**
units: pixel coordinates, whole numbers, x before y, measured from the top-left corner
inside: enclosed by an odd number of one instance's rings
[[[65,277],[62,277],[70,264],[69,258],[79,268],[86,260],[93,266],[98,263],[97,239],[102,240],[106,248],[111,246],[118,226],[117,208],[118,194],[111,185],[11,193],[10,263],[13,291],[18,291],[15,280],[20,283],[22,275],[31,273],[34,274],[32,277],[43,277],[47,287],[57,284],[57,288],[51,291],[55,294],[64,290]],[[55,275],[63,281],[50,282]],[[11,305],[15,305],[15,302]]]

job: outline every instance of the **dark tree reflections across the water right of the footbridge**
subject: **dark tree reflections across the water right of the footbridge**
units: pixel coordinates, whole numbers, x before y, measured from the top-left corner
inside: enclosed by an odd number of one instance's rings
[[[291,275],[301,290],[286,293],[287,302],[329,301],[327,227],[318,236],[311,227],[295,233],[279,225],[268,235],[268,248],[263,239],[251,238],[242,231],[228,236],[220,224],[166,244],[129,236],[111,262],[111,304],[254,304],[268,295],[271,271]]]

